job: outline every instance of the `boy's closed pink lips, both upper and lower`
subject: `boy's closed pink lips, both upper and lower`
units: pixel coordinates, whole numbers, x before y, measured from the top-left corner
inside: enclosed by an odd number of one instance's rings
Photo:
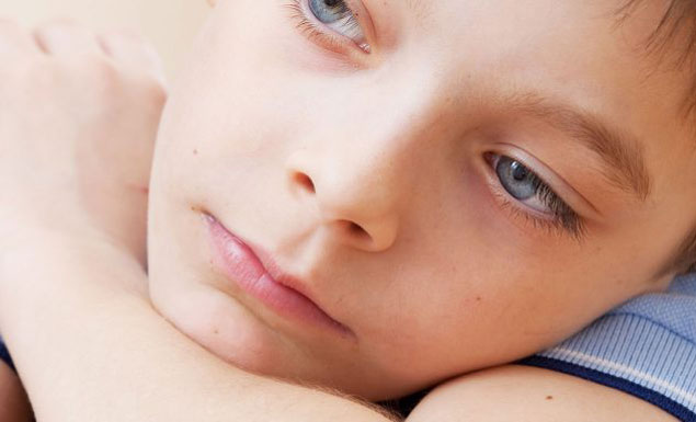
[[[206,216],[217,262],[230,281],[276,313],[342,334],[350,330],[329,317],[313,301],[299,292],[275,281],[253,251],[229,232],[217,219]]]

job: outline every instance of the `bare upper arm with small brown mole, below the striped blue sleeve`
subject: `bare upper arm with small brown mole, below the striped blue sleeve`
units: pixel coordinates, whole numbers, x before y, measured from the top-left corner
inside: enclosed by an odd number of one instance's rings
[[[408,422],[674,422],[623,391],[554,370],[507,365],[441,385]]]

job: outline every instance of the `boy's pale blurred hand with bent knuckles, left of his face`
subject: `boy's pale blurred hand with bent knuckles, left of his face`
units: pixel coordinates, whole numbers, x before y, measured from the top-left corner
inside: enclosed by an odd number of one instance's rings
[[[0,21],[0,251],[58,231],[145,261],[160,69],[134,36]]]

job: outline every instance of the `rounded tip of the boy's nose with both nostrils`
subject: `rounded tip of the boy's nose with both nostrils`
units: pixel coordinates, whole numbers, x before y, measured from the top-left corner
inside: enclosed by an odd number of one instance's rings
[[[318,212],[332,239],[369,252],[389,249],[398,235],[397,191],[383,169],[351,158],[327,162],[298,151],[288,160],[295,197]]]

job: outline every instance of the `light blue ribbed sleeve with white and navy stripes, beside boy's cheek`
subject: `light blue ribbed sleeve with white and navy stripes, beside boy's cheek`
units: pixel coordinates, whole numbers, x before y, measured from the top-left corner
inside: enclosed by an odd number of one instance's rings
[[[520,363],[617,388],[696,422],[696,274],[628,301]]]

